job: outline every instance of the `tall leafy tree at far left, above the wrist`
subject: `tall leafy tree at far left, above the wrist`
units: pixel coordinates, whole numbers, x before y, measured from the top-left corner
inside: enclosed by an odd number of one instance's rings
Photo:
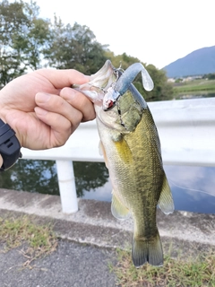
[[[39,18],[35,2],[0,3],[0,86],[41,66],[50,42],[50,22]]]

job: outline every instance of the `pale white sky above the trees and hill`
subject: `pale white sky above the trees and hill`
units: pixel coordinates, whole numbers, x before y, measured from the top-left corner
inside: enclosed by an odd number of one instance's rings
[[[30,2],[30,0],[25,0]],[[214,0],[36,0],[40,16],[77,22],[120,55],[162,68],[198,48],[215,46]]]

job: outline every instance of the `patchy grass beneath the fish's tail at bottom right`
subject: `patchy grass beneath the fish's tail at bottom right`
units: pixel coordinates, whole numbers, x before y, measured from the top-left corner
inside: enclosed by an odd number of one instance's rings
[[[136,269],[131,252],[117,249],[118,264],[109,267],[121,287],[214,287],[215,254],[201,254],[187,260],[166,256],[162,267],[143,265]]]

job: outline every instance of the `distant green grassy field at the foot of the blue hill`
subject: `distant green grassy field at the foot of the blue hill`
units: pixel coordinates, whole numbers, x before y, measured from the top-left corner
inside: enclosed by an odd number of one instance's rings
[[[174,93],[182,92],[215,92],[215,80],[194,80],[190,82],[183,83],[178,86],[174,86]]]

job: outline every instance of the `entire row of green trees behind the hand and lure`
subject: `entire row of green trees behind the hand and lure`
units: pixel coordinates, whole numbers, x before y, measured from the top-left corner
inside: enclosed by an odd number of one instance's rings
[[[39,18],[35,2],[0,3],[0,88],[14,77],[41,66],[58,69],[73,68],[84,74],[95,74],[109,58],[116,67],[126,69],[140,62],[137,57],[115,56],[101,45],[87,26],[64,24],[55,17],[54,23]],[[155,84],[153,91],[145,91],[139,74],[133,84],[145,100],[168,100],[172,86],[165,72],[154,65],[145,65]]]

